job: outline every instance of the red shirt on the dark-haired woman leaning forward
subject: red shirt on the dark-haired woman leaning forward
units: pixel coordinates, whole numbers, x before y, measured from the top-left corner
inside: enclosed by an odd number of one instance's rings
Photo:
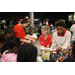
[[[15,32],[15,37],[20,37],[21,39],[25,39],[25,31],[23,29],[23,27],[19,24],[17,24],[14,28],[13,28],[14,32]]]

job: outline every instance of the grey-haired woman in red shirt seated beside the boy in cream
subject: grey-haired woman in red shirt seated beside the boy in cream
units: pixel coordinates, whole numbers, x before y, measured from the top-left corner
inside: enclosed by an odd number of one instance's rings
[[[42,26],[41,33],[42,35],[39,37],[39,41],[38,41],[38,48],[39,48],[39,45],[47,47],[47,48],[51,47],[52,36],[49,35],[49,28],[47,26]]]

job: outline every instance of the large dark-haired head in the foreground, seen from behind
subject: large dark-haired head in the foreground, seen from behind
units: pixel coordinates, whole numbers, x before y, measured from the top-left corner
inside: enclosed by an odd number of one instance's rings
[[[37,62],[37,48],[25,43],[18,50],[17,62]]]

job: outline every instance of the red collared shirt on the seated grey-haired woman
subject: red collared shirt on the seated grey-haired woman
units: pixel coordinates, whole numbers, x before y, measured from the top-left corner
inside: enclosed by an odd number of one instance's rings
[[[39,42],[41,42],[41,45],[45,47],[47,47],[47,45],[52,45],[52,36],[48,35],[47,39],[44,40],[44,35],[41,35],[39,38]]]

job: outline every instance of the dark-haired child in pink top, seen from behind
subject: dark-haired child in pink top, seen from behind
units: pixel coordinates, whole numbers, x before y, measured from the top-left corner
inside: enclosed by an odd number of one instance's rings
[[[8,42],[9,50],[6,50],[2,55],[2,62],[17,62],[17,50],[20,47],[21,42],[20,38],[16,37],[15,39]]]

